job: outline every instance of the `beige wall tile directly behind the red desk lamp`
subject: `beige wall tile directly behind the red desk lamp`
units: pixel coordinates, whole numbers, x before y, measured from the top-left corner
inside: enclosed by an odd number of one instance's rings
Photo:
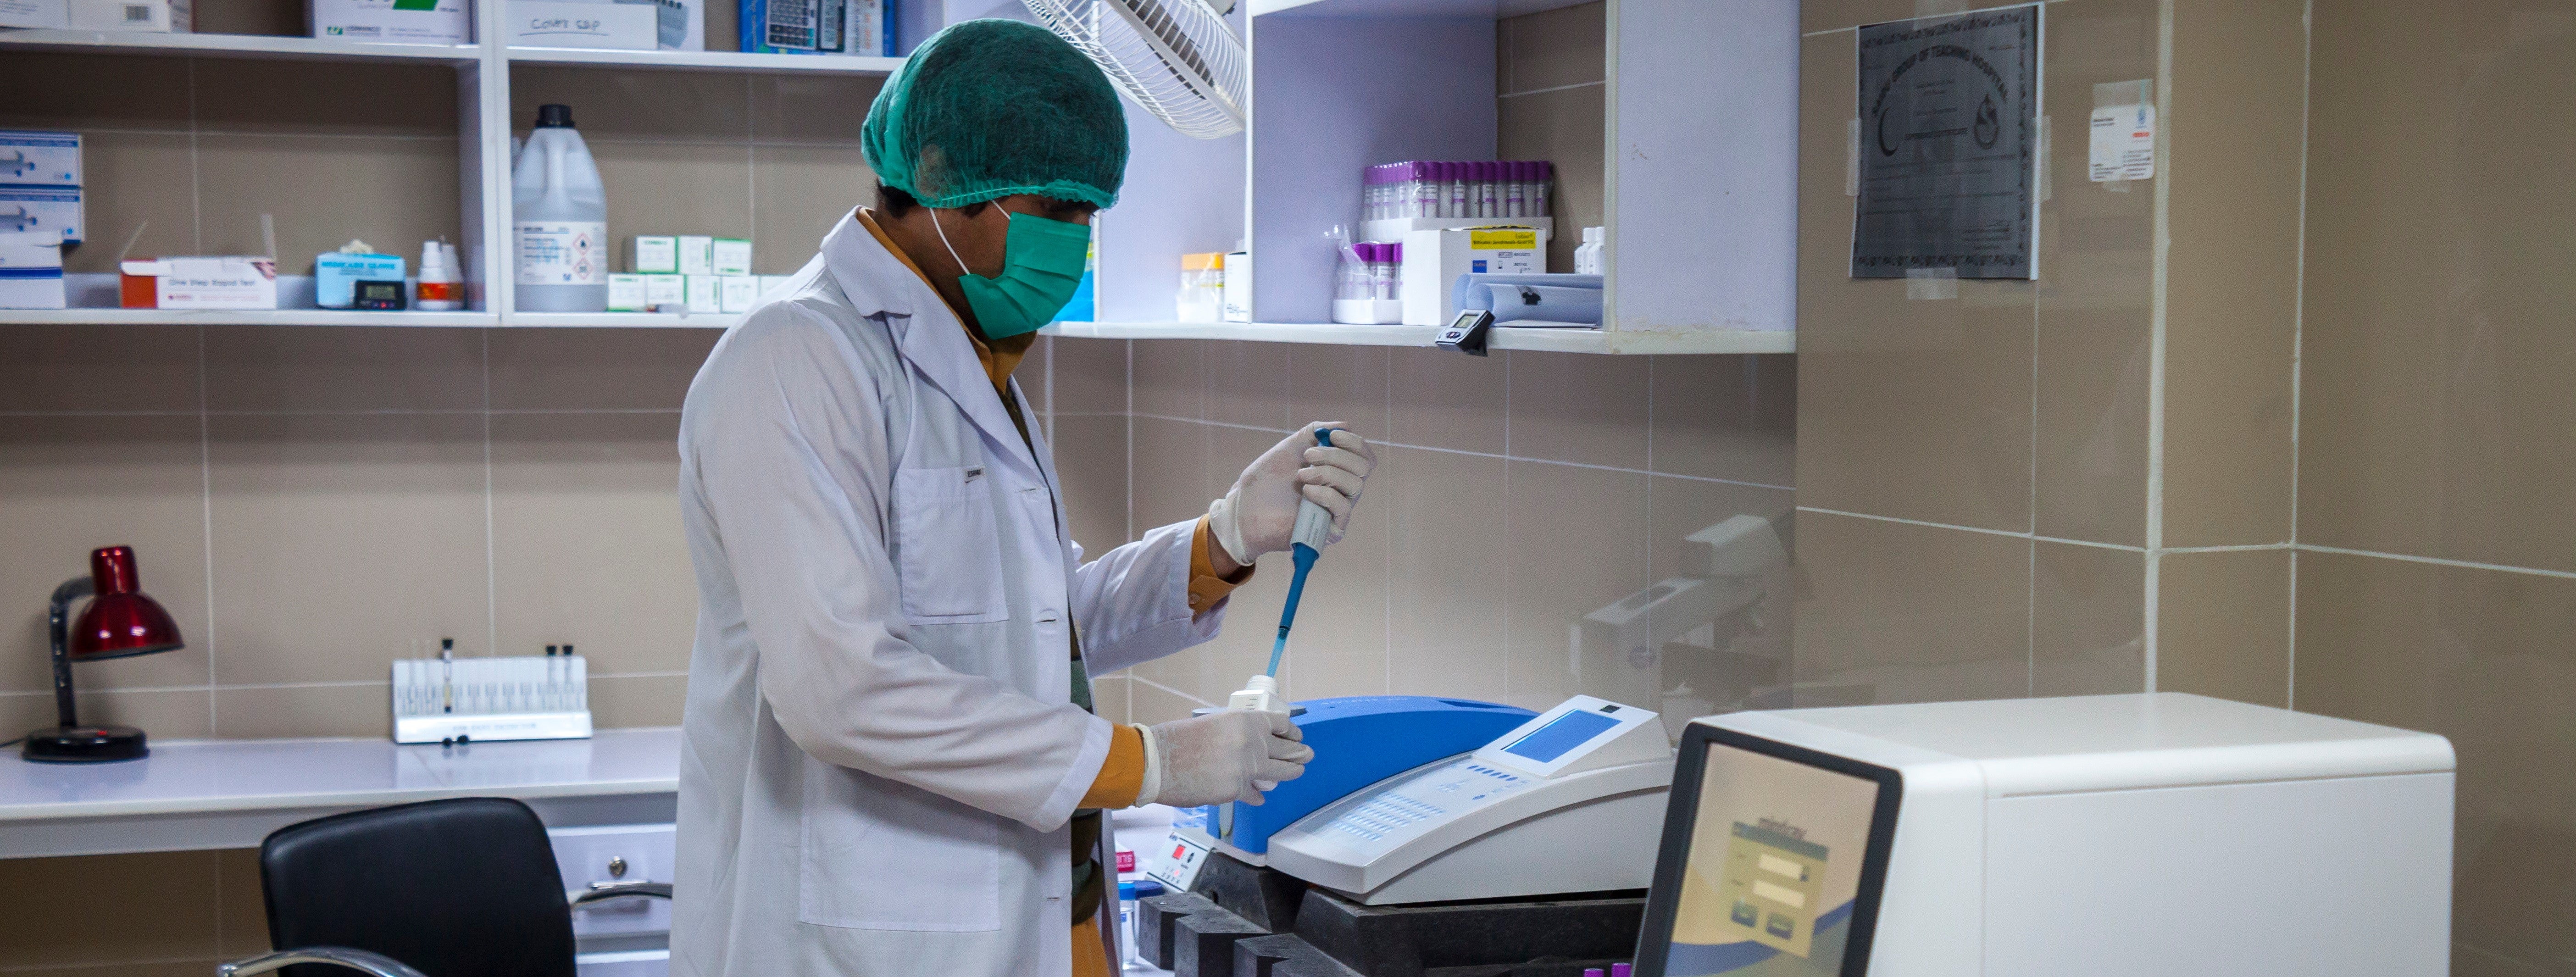
[[[0,691],[54,688],[46,595],[88,577],[98,547],[134,547],[144,593],[170,611],[188,647],[82,663],[72,681],[80,688],[206,683],[214,634],[196,418],[0,418],[0,539],[8,539],[0,593],[21,595],[0,619]]]

